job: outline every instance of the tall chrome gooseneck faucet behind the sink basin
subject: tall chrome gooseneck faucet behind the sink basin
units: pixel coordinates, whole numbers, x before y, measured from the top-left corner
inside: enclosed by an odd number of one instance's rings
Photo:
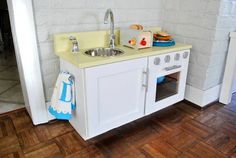
[[[115,48],[115,34],[114,34],[114,16],[111,9],[107,9],[104,17],[104,24],[108,23],[108,17],[110,15],[110,35],[109,35],[109,47]]]

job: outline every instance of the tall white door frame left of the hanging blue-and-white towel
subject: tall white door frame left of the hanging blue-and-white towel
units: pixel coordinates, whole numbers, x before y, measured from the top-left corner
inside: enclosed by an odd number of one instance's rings
[[[7,0],[25,107],[33,124],[48,122],[32,0]]]

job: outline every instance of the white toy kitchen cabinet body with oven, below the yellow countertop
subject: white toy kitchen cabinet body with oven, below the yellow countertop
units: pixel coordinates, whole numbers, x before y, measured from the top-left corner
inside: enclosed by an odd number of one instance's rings
[[[79,68],[60,59],[75,77],[76,110],[70,123],[86,140],[184,99],[189,50]]]

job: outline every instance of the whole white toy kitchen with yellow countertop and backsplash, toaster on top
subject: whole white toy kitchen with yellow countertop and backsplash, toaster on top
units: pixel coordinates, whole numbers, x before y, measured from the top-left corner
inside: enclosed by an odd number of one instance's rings
[[[138,24],[54,35],[75,81],[71,125],[87,140],[183,100],[191,47]]]

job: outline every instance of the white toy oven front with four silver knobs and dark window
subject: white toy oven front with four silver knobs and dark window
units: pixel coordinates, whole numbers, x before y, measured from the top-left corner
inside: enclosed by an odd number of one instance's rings
[[[184,99],[188,67],[188,56],[186,57],[185,52],[149,58],[146,115]]]

